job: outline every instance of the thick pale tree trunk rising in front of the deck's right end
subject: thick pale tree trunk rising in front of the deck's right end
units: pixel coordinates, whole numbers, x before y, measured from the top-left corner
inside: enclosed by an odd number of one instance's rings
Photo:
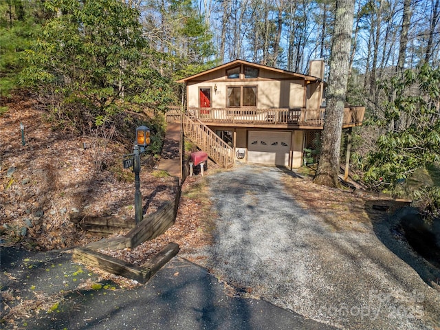
[[[331,45],[330,76],[322,131],[322,151],[314,182],[325,186],[339,186],[340,144],[344,102],[349,78],[349,56],[353,31],[353,0],[336,1],[336,17]]]

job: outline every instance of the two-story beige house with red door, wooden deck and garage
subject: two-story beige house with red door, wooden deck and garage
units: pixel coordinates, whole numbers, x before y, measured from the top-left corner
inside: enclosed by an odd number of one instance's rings
[[[184,133],[225,167],[241,160],[298,168],[305,148],[319,148],[324,69],[321,60],[310,61],[309,75],[236,60],[177,80],[186,84]],[[346,107],[344,129],[361,125],[364,111]]]

